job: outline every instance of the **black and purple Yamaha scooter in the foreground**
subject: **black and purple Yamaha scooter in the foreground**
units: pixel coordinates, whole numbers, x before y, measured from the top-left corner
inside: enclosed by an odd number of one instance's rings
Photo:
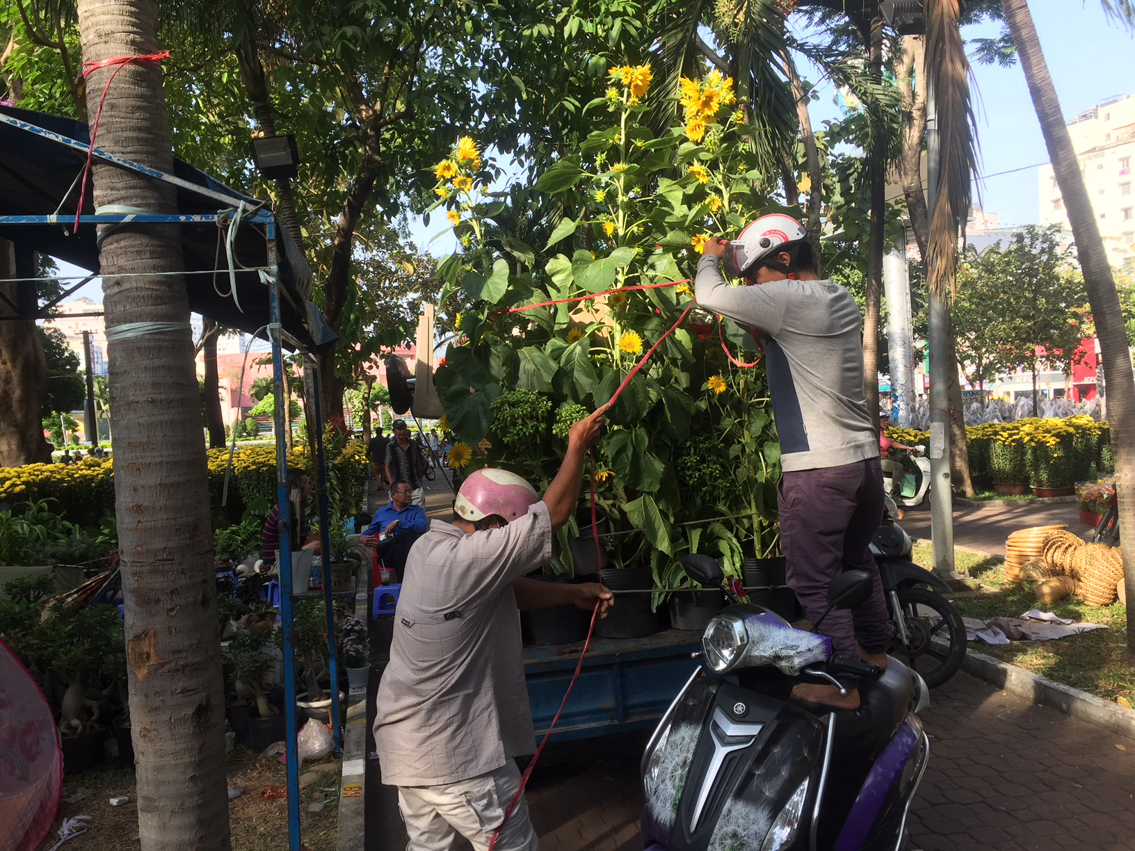
[[[695,582],[725,585],[713,558],[691,555],[682,564]],[[829,612],[854,608],[871,590],[866,572],[838,576]],[[706,626],[703,665],[642,757],[644,846],[899,851],[930,757],[918,719],[926,683],[897,659],[881,672],[834,656],[825,635],[794,630],[725,591],[734,605]],[[839,685],[839,674],[860,677],[859,709],[790,700],[796,683]]]

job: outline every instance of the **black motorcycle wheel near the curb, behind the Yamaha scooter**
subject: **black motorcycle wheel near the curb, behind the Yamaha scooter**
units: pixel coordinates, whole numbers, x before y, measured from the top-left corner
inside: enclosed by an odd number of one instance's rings
[[[938,688],[961,667],[966,656],[966,624],[958,609],[934,591],[901,588],[896,593],[899,610],[891,613],[896,629],[890,654],[917,671],[930,688]],[[900,617],[907,629],[906,642],[898,629]]]

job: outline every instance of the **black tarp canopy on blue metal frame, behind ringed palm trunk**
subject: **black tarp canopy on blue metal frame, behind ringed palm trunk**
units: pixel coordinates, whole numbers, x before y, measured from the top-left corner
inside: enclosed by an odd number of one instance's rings
[[[48,136],[14,127],[0,121],[0,216],[50,216],[59,213],[59,224],[0,225],[0,237],[20,247],[49,254],[59,260],[99,271],[99,247],[95,242],[95,226],[79,225],[72,233],[75,205],[78,203],[78,186],[72,189],[75,178],[85,163],[85,145],[90,142],[87,127],[70,118],[59,118],[42,112],[31,112],[15,107],[0,106],[0,112],[20,121],[42,127],[84,145],[79,151],[60,144]],[[255,203],[215,180],[203,171],[182,160],[174,161],[174,175],[197,186],[210,188],[233,199],[233,207],[239,201]],[[68,189],[72,189],[68,194]],[[176,187],[177,211],[180,214],[208,214],[225,209],[218,200],[200,195],[191,189]],[[60,207],[64,196],[67,201]],[[90,186],[83,204],[85,216],[94,214]],[[133,227],[145,227],[134,225]],[[269,321],[268,286],[257,271],[239,267],[263,267],[268,263],[268,247],[263,225],[242,225],[234,242],[237,261],[236,292],[239,307],[230,296],[218,293],[229,292],[225,235],[212,221],[187,222],[178,226],[182,233],[182,251],[187,271],[221,268],[216,287],[210,275],[187,275],[185,288],[190,297],[190,309],[220,325],[238,328],[253,334]],[[295,337],[305,348],[321,351],[335,342],[335,332],[327,327],[322,314],[314,304],[303,298],[302,292],[310,292],[311,270],[295,241],[281,228],[276,228],[279,254],[280,323],[284,330]],[[220,242],[218,242],[220,241]],[[218,246],[220,247],[217,262]]]

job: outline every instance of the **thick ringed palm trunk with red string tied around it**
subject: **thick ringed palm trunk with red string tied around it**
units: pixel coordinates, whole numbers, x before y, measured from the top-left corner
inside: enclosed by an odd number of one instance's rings
[[[83,59],[155,52],[157,18],[153,0],[79,0]],[[87,78],[92,115],[114,71],[100,68]],[[125,65],[118,71],[102,109],[98,145],[173,172],[157,65]],[[173,186],[96,162],[94,205],[107,204],[176,212]],[[138,839],[143,851],[227,851],[225,703],[209,489],[190,305],[177,276],[184,270],[179,228],[126,225],[104,236],[100,261],[111,338],[115,507]],[[115,329],[154,322],[162,326],[115,335]]]

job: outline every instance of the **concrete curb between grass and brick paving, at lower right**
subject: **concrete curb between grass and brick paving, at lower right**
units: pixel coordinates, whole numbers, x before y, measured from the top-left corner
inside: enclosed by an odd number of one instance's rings
[[[966,652],[961,669],[1033,703],[1052,707],[1073,718],[1135,739],[1135,709],[974,650]]]

